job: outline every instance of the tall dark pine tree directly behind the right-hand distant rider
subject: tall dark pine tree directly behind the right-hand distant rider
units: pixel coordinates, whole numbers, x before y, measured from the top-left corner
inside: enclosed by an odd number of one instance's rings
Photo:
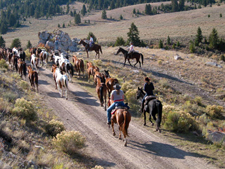
[[[128,43],[133,42],[134,46],[140,45],[139,31],[137,26],[134,23],[131,23],[131,27],[129,28],[129,32],[127,33]]]

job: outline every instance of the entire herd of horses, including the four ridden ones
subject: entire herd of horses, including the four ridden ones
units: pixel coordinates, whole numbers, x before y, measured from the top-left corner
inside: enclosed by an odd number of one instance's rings
[[[79,44],[83,44],[86,46],[84,41],[80,41]],[[87,57],[88,57],[88,49],[86,49]],[[89,49],[90,50],[90,49]],[[99,51],[101,51],[101,46],[94,44],[93,48],[96,52],[96,55],[99,57]],[[60,96],[63,97],[63,93],[65,90],[65,98],[68,99],[68,82],[72,82],[72,78],[74,72],[77,72],[78,76],[84,76],[85,65],[84,61],[81,58],[77,58],[77,56],[72,56],[72,63],[69,60],[69,57],[65,53],[61,53],[60,51],[47,51],[46,49],[41,49],[39,47],[32,47],[29,49],[31,54],[30,65],[27,65],[25,62],[25,52],[22,48],[0,48],[0,60],[1,58],[8,61],[10,67],[20,74],[21,78],[24,76],[26,78],[26,74],[28,74],[28,79],[30,81],[31,87],[38,92],[38,65],[43,66],[44,63],[47,64],[50,58],[50,61],[53,62],[51,71],[53,74],[53,80],[55,82],[55,88],[59,90]],[[143,64],[143,55],[139,52],[134,52],[131,56],[128,51],[123,48],[119,48],[116,55],[119,53],[124,55],[124,65],[126,60],[128,60],[129,64],[130,59],[136,59],[136,63],[134,66],[139,63],[140,67]],[[114,90],[114,86],[119,83],[118,79],[110,76],[108,70],[100,71],[98,66],[95,66],[92,62],[86,63],[86,71],[88,82],[90,82],[90,78],[93,77],[93,82],[96,86],[96,93],[98,99],[100,101],[100,105],[107,109],[112,104],[112,100],[110,100],[110,93]],[[145,93],[143,89],[138,87],[137,90],[137,99],[143,98]],[[108,101],[107,101],[108,99]],[[146,125],[146,112],[149,112],[149,121],[154,125],[151,121],[151,116],[157,123],[156,131],[161,132],[160,123],[162,118],[162,104],[156,99],[152,98],[146,103],[147,108],[144,111],[144,125]],[[127,145],[126,137],[128,136],[128,127],[131,121],[131,113],[125,107],[116,108],[115,111],[112,111],[111,116],[111,126],[113,135],[115,135],[114,131],[114,123],[117,123],[119,126],[119,139],[121,139],[121,132],[124,136],[124,145]],[[157,115],[157,117],[156,117]]]

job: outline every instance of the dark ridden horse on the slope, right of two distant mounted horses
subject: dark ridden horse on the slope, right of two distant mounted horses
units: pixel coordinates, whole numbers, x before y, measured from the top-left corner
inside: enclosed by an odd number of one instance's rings
[[[123,49],[123,48],[119,48],[118,49],[118,51],[116,52],[116,55],[118,55],[120,52],[122,52],[123,53],[123,55],[124,55],[124,64],[123,64],[123,66],[125,66],[125,63],[126,63],[126,61],[128,60],[128,62],[129,62],[129,64],[131,65],[131,63],[130,63],[130,59],[136,59],[136,63],[134,64],[134,67],[135,67],[135,65],[137,64],[137,63],[139,63],[139,65],[140,65],[140,67],[141,67],[141,64],[143,65],[143,61],[144,61],[144,57],[143,57],[143,55],[141,54],[141,53],[139,53],[139,52],[133,52],[132,53],[132,55],[130,54],[130,53],[128,53],[128,51],[127,50],[125,50],[125,49]],[[141,59],[141,61],[140,61],[140,59]],[[142,63],[141,63],[142,62]],[[131,65],[132,66],[132,65]]]

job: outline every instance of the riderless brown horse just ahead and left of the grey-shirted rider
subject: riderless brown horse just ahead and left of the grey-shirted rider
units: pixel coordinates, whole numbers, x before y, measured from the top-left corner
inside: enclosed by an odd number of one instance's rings
[[[97,73],[97,72],[96,72]],[[97,85],[96,85],[96,92],[98,94],[98,98],[100,100],[101,106],[106,110],[106,95],[107,95],[107,89],[105,86],[105,77],[104,75],[100,74],[100,76],[96,76],[97,78]]]

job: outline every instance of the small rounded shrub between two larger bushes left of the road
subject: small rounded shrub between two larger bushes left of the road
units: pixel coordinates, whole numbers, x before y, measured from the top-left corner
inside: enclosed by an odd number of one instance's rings
[[[62,122],[53,119],[46,125],[45,130],[49,135],[55,137],[64,131],[65,127]]]

